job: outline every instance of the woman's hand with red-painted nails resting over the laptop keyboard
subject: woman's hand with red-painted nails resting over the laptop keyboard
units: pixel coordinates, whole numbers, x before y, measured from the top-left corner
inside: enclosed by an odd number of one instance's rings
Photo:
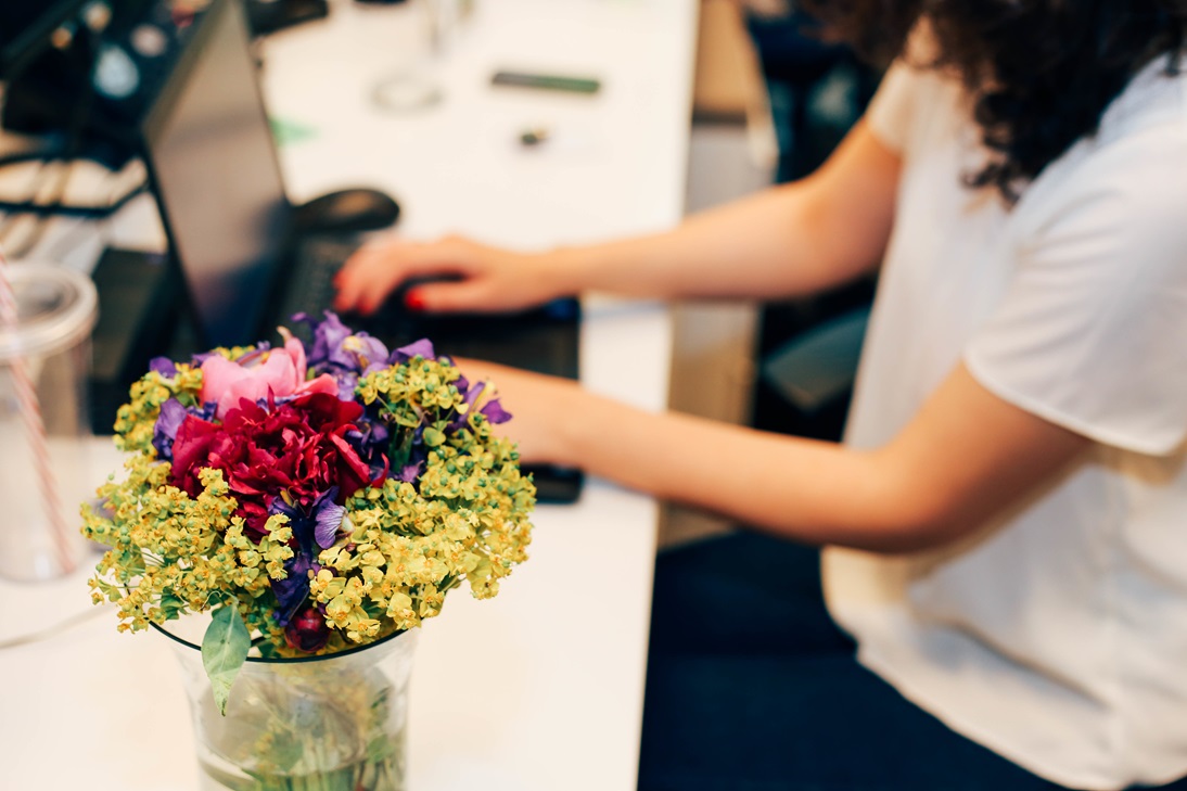
[[[513,253],[461,236],[413,242],[391,236],[363,246],[338,273],[339,311],[372,314],[401,284],[405,303],[429,312],[502,312],[532,308],[576,287],[559,255]]]

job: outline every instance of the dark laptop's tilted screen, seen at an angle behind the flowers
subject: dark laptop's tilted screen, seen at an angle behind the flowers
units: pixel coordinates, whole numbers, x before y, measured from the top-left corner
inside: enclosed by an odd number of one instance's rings
[[[239,4],[212,2],[201,17],[144,144],[203,340],[256,341],[291,207]]]

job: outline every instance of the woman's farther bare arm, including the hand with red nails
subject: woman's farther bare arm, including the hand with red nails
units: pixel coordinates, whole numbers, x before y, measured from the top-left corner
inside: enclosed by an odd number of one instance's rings
[[[882,258],[899,157],[859,122],[814,175],[686,220],[674,230],[547,253],[462,238],[372,243],[338,277],[338,310],[372,312],[408,278],[427,311],[515,310],[588,290],[636,297],[804,295],[856,278]],[[630,189],[624,184],[623,189]]]

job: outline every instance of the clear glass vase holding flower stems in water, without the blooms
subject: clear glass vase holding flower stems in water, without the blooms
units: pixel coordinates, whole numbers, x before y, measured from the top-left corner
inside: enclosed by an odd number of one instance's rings
[[[249,657],[215,704],[198,639],[170,624],[203,791],[405,791],[415,632],[323,657]]]

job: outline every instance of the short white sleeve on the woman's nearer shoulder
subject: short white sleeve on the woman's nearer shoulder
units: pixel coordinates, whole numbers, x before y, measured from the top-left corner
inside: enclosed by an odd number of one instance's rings
[[[1083,164],[1034,196],[1042,220],[965,365],[1052,423],[1168,454],[1187,436],[1187,134],[1150,129]]]

